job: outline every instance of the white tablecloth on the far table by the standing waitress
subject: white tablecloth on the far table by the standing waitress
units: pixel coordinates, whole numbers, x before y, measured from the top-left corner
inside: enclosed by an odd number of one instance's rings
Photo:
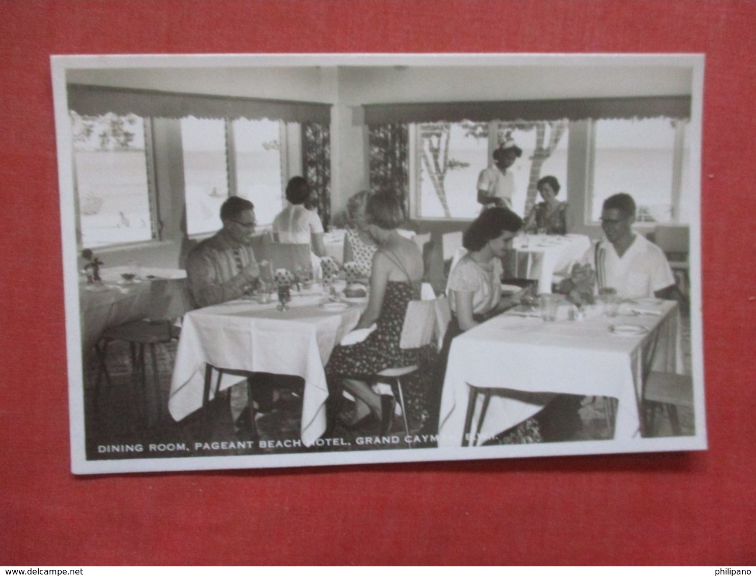
[[[590,248],[590,239],[581,234],[528,234],[516,237],[513,247],[518,253],[528,254],[525,277],[538,280],[538,293],[550,293],[554,272],[581,259]],[[522,276],[522,271],[518,275]]]

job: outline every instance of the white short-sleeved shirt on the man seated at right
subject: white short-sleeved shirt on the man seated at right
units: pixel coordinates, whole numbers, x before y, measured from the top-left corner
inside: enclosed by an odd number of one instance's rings
[[[594,244],[584,258],[596,270],[598,287],[614,288],[620,298],[653,298],[654,293],[674,284],[674,274],[661,248],[635,234],[635,240],[620,258],[609,240]]]

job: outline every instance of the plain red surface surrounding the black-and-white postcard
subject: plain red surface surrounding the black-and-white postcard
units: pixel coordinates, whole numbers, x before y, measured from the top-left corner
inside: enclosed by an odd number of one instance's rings
[[[752,2],[0,3],[0,562],[756,563]],[[70,474],[50,54],[705,52],[710,448]]]

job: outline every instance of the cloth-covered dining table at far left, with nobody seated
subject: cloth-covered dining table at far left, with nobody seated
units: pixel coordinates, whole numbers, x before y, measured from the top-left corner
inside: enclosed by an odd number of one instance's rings
[[[177,318],[187,306],[184,270],[113,266],[101,268],[100,277],[99,282],[85,277],[79,282],[83,351],[91,350],[107,327],[144,318]]]

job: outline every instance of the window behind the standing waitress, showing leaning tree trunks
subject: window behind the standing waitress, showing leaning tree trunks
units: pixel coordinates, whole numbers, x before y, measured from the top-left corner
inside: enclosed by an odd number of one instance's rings
[[[411,209],[415,218],[476,218],[480,172],[491,153],[513,140],[522,156],[510,167],[514,212],[525,215],[538,201],[535,184],[550,174],[567,181],[568,122],[432,122],[412,125]],[[565,192],[560,192],[565,200]]]

